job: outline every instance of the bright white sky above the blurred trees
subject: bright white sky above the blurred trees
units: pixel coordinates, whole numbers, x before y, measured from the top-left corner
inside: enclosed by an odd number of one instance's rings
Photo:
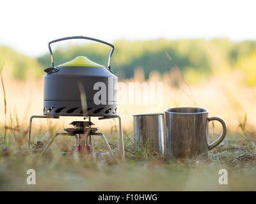
[[[156,38],[256,40],[256,1],[0,0],[0,45],[24,54],[48,52],[66,36],[113,42]],[[76,41],[77,43],[77,41]]]

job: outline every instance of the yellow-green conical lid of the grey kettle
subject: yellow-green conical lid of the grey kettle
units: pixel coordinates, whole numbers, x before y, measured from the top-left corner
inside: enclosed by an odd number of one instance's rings
[[[75,59],[65,62],[64,64],[60,64],[59,66],[92,66],[92,67],[104,68],[103,65],[97,64],[96,62],[93,62],[84,56],[76,57]]]

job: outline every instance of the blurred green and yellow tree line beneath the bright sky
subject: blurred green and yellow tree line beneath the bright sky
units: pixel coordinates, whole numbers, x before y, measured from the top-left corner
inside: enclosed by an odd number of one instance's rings
[[[191,82],[201,77],[226,73],[230,69],[239,69],[246,76],[248,85],[256,85],[256,41],[234,43],[227,38],[214,40],[118,40],[113,43],[115,52],[111,59],[111,68],[120,78],[132,78],[134,69],[141,68],[148,78],[151,71],[163,74],[171,68],[178,67]],[[4,50],[0,47],[0,61]],[[110,48],[100,43],[68,45],[57,47],[54,51],[55,64],[62,64],[77,56],[86,56],[92,61],[107,66]],[[14,52],[14,51],[13,51]],[[4,54],[2,56],[2,54]],[[10,54],[11,56],[11,54]],[[18,57],[16,57],[18,56]],[[1,59],[2,58],[2,59]],[[42,71],[49,67],[51,57],[42,55],[29,59],[15,53],[10,62],[13,64],[13,77],[25,79],[26,73],[33,69],[36,76],[44,75]]]

